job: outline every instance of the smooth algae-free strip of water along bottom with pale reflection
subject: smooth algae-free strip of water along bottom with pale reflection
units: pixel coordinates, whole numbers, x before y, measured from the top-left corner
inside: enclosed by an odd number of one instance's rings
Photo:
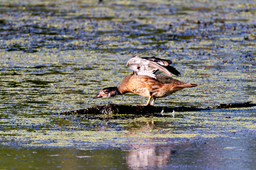
[[[0,158],[2,168],[6,169],[253,169],[256,164],[252,159],[255,152],[252,140],[182,143],[170,140],[165,145],[128,143],[128,150],[12,148]]]

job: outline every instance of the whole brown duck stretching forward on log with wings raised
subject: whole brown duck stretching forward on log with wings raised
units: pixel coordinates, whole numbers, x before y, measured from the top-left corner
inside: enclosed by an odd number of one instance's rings
[[[135,93],[148,97],[146,104],[138,104],[138,106],[154,106],[156,98],[169,96],[186,87],[197,86],[196,83],[185,83],[172,78],[172,74],[179,75],[180,72],[176,68],[169,66],[170,64],[172,64],[171,60],[164,60],[155,56],[139,57],[135,55],[126,65],[133,72],[125,76],[117,87],[104,88],[92,99],[100,97],[110,98],[126,93]],[[157,74],[156,72],[158,70],[164,72],[166,75]],[[152,103],[150,103],[152,98]]]

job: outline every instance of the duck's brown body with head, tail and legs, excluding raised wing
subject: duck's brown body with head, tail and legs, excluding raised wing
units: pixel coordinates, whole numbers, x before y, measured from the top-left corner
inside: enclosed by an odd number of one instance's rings
[[[114,97],[125,93],[135,93],[140,96],[149,97],[147,104],[141,105],[147,106],[152,97],[153,101],[150,105],[154,105],[156,98],[166,97],[186,87],[197,86],[196,83],[185,83],[161,74],[156,74],[156,79],[147,75],[135,75],[132,73],[125,76],[117,87],[104,88],[97,96],[93,97],[93,99],[99,97]]]

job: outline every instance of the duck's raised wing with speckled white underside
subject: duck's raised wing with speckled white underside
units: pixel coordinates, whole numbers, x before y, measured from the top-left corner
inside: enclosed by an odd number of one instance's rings
[[[131,68],[136,75],[148,75],[148,76],[152,77],[151,74],[154,74],[158,70],[161,70],[165,74],[172,76],[170,71],[167,68],[165,68],[165,67],[169,66],[169,63],[172,63],[172,61],[171,60],[162,60],[162,59],[158,60],[158,58],[155,58],[155,57],[140,58],[138,55],[135,55],[127,62],[126,66],[128,68]],[[171,68],[171,66],[169,68]],[[173,70],[173,69],[171,69],[171,70]],[[177,73],[175,73],[175,75],[176,74]],[[155,76],[153,78],[155,78]]]

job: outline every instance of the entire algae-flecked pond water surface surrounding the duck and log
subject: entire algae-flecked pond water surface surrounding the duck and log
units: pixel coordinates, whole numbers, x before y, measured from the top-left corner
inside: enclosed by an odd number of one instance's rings
[[[255,1],[1,1],[0,169],[256,169],[256,107],[63,116],[131,73],[173,61],[197,83],[157,106],[256,103]],[[226,118],[231,117],[231,118]]]

